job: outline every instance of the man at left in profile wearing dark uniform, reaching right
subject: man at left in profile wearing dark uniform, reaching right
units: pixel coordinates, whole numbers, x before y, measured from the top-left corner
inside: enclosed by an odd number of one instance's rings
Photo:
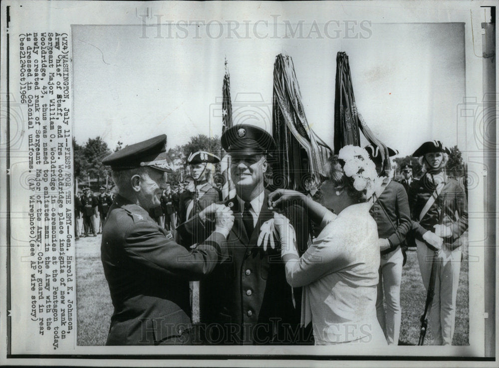
[[[234,215],[226,206],[212,207],[214,231],[191,251],[149,217],[172,171],[165,145],[163,134],[102,161],[111,166],[118,191],[101,245],[114,306],[107,345],[191,343],[189,281],[209,274],[227,254]]]

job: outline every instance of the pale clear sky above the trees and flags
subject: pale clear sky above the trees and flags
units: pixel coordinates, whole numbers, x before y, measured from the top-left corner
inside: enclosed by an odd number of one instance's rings
[[[76,140],[101,136],[113,149],[118,140],[162,133],[168,147],[198,133],[220,136],[226,58],[235,123],[256,114],[270,131],[273,63],[287,53],[308,123],[332,147],[336,53],[345,51],[359,112],[400,156],[427,140],[464,144],[456,128],[465,96],[463,23],[373,23],[360,30],[366,38],[353,39],[196,38],[194,27],[185,26],[188,37],[155,38],[139,25],[73,25]]]

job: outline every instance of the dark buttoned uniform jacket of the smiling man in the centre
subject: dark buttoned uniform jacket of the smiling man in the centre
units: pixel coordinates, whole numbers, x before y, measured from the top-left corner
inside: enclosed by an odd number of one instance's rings
[[[286,282],[284,264],[276,249],[256,246],[261,225],[273,218],[268,210],[268,191],[252,234],[247,234],[243,208],[237,199],[225,202],[235,215],[227,238],[228,258],[201,282],[200,342],[215,345],[310,344],[311,329],[300,328],[301,288]],[[300,251],[306,249],[309,228],[305,211],[298,206],[287,209],[295,227]],[[182,224],[178,230],[194,239],[203,238],[213,223],[199,217]]]

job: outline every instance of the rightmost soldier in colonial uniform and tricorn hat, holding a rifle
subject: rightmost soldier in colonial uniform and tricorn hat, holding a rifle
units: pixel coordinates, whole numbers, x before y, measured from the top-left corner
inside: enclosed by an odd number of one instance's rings
[[[423,143],[413,156],[423,165],[423,176],[409,191],[412,229],[425,288],[434,288],[430,326],[435,345],[452,345],[456,296],[463,240],[468,229],[468,204],[464,189],[447,176],[449,150],[441,141]],[[435,254],[436,253],[436,254]],[[436,259],[432,261],[436,255]],[[430,285],[432,267],[434,285]]]

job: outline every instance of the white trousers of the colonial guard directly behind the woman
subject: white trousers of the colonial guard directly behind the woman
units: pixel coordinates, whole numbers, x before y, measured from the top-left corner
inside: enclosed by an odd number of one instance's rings
[[[400,307],[400,282],[402,280],[402,249],[381,255],[379,267],[378,296],[376,313],[378,321],[385,333],[388,345],[398,345],[402,309]],[[383,306],[385,296],[386,310]]]

